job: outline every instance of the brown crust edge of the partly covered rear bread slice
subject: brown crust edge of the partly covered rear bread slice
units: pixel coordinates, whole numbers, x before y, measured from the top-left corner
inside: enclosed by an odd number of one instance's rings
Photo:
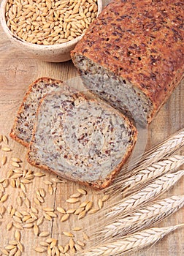
[[[11,132],[9,133],[9,136],[13,140],[18,141],[18,143],[21,143],[23,146],[26,146],[26,147],[28,147],[29,143],[26,142],[26,140],[23,140],[22,138],[19,138],[19,136],[18,136],[18,132],[17,132],[18,122],[20,121],[21,113],[23,113],[23,111],[24,111],[25,102],[28,99],[29,95],[31,94],[31,91],[33,91],[33,87],[35,85],[37,85],[37,83],[40,83],[40,82],[43,82],[45,84],[47,84],[47,83],[58,83],[58,84],[63,83],[61,80],[56,80],[56,79],[52,79],[52,78],[42,77],[42,78],[38,78],[37,80],[35,80],[33,83],[31,83],[28,86],[28,90],[26,91],[26,94],[23,97],[23,102],[21,103],[20,108],[18,109],[18,114],[15,117],[15,121],[14,121],[13,127],[11,129]]]

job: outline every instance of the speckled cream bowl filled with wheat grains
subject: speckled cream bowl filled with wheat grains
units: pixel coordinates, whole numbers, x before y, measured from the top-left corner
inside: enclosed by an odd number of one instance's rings
[[[63,62],[101,9],[101,0],[2,0],[0,20],[25,56]]]

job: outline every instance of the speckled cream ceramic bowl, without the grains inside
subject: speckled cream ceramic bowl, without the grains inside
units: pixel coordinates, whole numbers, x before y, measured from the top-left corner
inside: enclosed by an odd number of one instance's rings
[[[102,10],[101,0],[98,0],[97,4],[97,15],[99,15]],[[7,21],[5,19],[6,6],[7,0],[2,0],[0,6],[1,26],[4,29],[4,33],[7,36],[7,39],[10,39],[12,44],[15,45],[18,50],[21,50],[25,56],[48,62],[63,62],[71,59],[70,51],[74,49],[74,46],[77,44],[78,41],[80,41],[83,35],[69,42],[55,45],[37,45],[31,42],[26,42],[23,39],[16,37],[15,34],[12,34],[12,31],[9,30],[7,26]]]

